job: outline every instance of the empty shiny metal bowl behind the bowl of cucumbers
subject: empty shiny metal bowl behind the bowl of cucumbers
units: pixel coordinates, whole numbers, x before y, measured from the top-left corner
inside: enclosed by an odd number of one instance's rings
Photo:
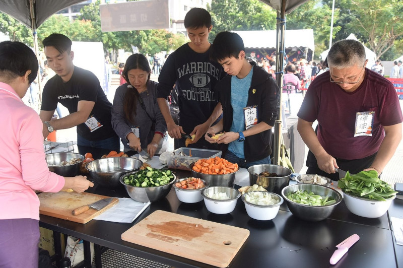
[[[138,170],[143,165],[139,159],[132,157],[101,158],[88,163],[85,167],[91,177],[100,185],[116,187],[119,178],[127,172]]]

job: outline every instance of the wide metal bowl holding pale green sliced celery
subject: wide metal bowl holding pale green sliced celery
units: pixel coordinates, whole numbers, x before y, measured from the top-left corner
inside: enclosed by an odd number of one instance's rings
[[[287,198],[287,194],[294,193],[297,190],[311,191],[321,196],[331,196],[334,198],[334,200],[336,200],[336,203],[328,206],[314,207],[292,202]],[[330,216],[336,206],[342,202],[342,195],[337,190],[327,186],[310,183],[289,185],[281,191],[281,195],[283,195],[284,200],[286,201],[287,206],[292,214],[302,220],[310,222],[318,222],[326,219]]]

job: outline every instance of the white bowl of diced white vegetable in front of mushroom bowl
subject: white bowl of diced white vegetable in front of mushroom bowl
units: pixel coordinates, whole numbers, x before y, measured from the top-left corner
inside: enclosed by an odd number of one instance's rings
[[[280,205],[284,202],[283,197],[274,192],[261,192],[263,195],[271,194],[272,197],[276,196],[277,199],[280,199],[280,202],[275,205],[261,206],[252,204],[245,200],[245,195],[249,193],[251,192],[242,194],[242,201],[245,203],[245,209],[250,218],[260,221],[268,221],[273,220],[277,216],[280,210]]]

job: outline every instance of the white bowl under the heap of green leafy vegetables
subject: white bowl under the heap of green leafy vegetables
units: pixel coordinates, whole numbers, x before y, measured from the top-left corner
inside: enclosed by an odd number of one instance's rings
[[[387,212],[396,196],[387,198],[386,201],[361,198],[343,191],[344,202],[351,213],[366,218],[378,218]]]

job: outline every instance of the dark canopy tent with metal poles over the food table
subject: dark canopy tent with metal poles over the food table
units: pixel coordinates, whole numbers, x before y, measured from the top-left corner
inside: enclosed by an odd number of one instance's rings
[[[284,62],[284,33],[286,24],[286,14],[291,13],[293,10],[304,4],[308,0],[260,0],[261,2],[271,6],[277,11],[277,46],[276,46],[276,71],[279,73],[276,76],[279,88],[283,88],[283,62]],[[72,6],[74,4],[84,2],[83,0],[2,0],[0,1],[0,11],[9,14],[23,24],[32,28],[34,38],[35,53],[38,55],[38,42],[36,29],[47,18],[54,13]],[[38,71],[38,75],[39,71]],[[39,80],[40,81],[40,80]],[[39,84],[40,86],[40,84]],[[280,104],[281,94],[280,95]],[[274,163],[280,164],[280,148],[281,148],[281,123],[282,113],[281,105],[279,105],[279,118],[275,124],[275,143],[274,143]]]

